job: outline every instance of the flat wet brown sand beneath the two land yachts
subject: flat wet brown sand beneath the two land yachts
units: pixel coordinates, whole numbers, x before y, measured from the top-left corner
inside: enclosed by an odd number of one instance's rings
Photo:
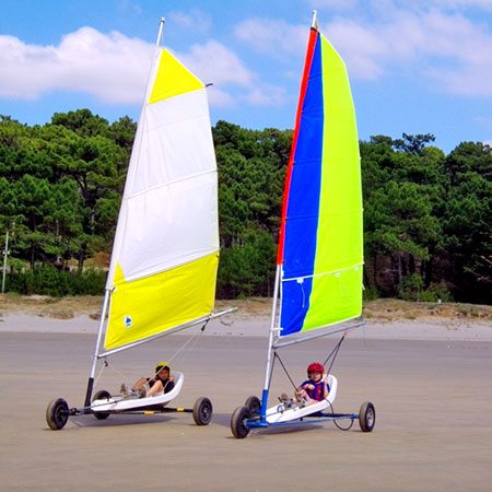
[[[105,421],[83,415],[54,432],[46,407],[60,396],[71,407],[82,405],[94,335],[2,329],[1,489],[490,490],[492,342],[476,331],[458,337],[452,330],[445,338],[421,331],[426,335],[385,339],[366,328],[340,350],[332,370],[339,379],[335,410],[356,413],[372,401],[374,432],[362,433],[358,422],[348,432],[313,423],[236,440],[232,412],[248,396],[260,396],[263,386],[265,336],[209,335],[191,340],[172,361],[185,373],[173,403],[192,407],[208,396],[214,407],[208,426],[195,425],[188,413]],[[110,358],[96,388],[115,391],[122,380],[148,375],[188,340],[169,336]],[[280,355],[297,382],[306,364],[323,361],[335,342],[328,337]],[[278,365],[272,398],[284,390],[291,390],[290,382]]]

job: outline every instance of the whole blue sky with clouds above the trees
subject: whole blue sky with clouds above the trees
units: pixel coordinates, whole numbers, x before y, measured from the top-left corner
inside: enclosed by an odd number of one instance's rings
[[[344,59],[359,136],[492,144],[492,0],[0,0],[0,114],[137,120],[159,21],[212,124],[293,128],[312,11]]]

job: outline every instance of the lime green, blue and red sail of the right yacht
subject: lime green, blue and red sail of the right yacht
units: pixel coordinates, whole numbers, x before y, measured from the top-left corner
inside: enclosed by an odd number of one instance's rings
[[[362,312],[362,190],[344,63],[312,28],[285,179],[277,263],[281,336]]]

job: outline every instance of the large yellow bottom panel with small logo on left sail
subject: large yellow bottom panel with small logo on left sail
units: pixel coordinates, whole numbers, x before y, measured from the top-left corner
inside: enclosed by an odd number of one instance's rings
[[[212,254],[132,282],[126,282],[117,268],[105,348],[126,345],[209,315],[218,263],[219,255]]]

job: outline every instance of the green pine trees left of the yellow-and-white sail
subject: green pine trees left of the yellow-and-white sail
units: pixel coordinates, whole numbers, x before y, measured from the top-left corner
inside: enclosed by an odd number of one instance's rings
[[[0,120],[0,227],[10,254],[34,268],[109,249],[136,125],[89,109],[26,127]]]

